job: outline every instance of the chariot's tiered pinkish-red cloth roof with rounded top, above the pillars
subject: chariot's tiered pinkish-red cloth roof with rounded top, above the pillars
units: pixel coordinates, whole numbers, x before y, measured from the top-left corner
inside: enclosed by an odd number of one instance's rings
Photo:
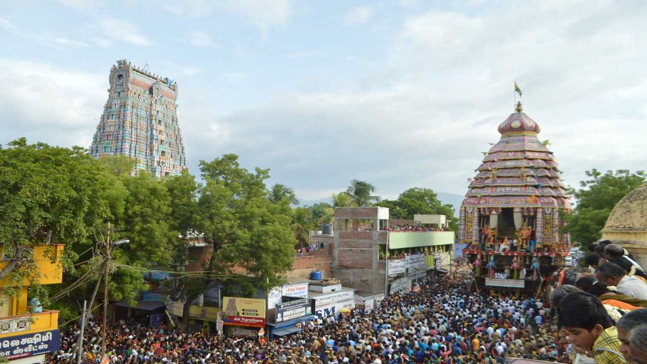
[[[463,206],[571,209],[553,152],[537,138],[540,130],[518,106],[499,125],[501,139],[477,168]]]

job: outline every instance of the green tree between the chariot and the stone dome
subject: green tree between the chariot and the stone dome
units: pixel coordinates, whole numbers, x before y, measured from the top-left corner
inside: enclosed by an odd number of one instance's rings
[[[589,179],[580,181],[580,188],[570,188],[575,195],[577,206],[572,214],[565,215],[565,231],[571,234],[574,242],[580,242],[587,247],[601,236],[604,227],[615,204],[626,194],[645,181],[642,170],[608,170],[604,174],[593,169],[586,171]]]

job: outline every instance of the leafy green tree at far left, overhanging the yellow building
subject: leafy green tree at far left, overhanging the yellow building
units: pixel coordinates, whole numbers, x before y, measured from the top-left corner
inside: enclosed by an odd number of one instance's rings
[[[124,209],[123,195],[118,180],[83,148],[27,144],[25,138],[0,148],[0,244],[9,260],[0,278],[18,286],[26,278],[30,294],[47,302],[32,246],[65,244],[61,264],[74,270],[78,252],[93,246],[96,228]]]

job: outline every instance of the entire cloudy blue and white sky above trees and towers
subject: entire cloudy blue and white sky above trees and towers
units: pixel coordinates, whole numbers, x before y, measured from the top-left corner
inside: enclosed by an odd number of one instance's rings
[[[513,82],[567,185],[647,165],[645,1],[11,1],[0,143],[89,146],[115,60],[179,84],[197,162],[236,153],[325,198],[465,194]]]

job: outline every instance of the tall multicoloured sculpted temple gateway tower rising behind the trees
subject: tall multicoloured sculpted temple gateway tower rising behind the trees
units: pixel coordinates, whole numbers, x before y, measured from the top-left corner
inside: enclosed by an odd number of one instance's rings
[[[179,174],[186,168],[184,142],[177,120],[177,83],[118,60],[109,76],[104,112],[90,154],[122,154],[137,161],[137,170],[154,176]]]

